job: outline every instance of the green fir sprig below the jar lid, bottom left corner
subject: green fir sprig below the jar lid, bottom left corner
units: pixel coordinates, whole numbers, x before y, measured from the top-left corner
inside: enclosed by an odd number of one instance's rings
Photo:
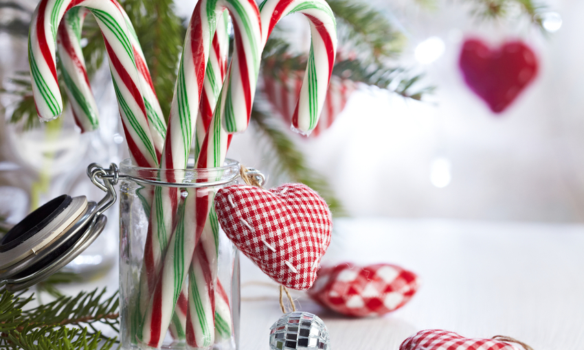
[[[118,331],[117,294],[105,290],[62,296],[52,303],[25,310],[34,299],[23,293],[0,294],[0,349],[107,350],[116,342],[101,334],[95,323]],[[85,327],[84,327],[85,326]]]

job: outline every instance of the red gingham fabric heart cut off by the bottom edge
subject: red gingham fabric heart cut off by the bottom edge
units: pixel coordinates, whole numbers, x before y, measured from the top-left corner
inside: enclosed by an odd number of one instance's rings
[[[404,340],[399,350],[523,350],[523,347],[500,340],[464,338],[453,331],[427,329]]]

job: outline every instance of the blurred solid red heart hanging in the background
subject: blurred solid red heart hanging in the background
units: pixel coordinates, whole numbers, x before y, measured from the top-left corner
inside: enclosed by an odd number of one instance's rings
[[[464,41],[458,66],[464,81],[488,104],[502,113],[537,75],[537,56],[519,40],[490,49],[479,39]]]

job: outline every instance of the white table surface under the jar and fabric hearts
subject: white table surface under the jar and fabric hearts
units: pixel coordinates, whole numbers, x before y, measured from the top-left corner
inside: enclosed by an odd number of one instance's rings
[[[584,225],[339,219],[323,264],[342,261],[397,264],[422,285],[400,310],[363,319],[331,314],[293,292],[300,310],[324,320],[335,350],[395,350],[421,329],[502,334],[535,350],[584,349]],[[115,290],[116,272],[83,287],[96,285]],[[269,349],[269,327],[281,314],[276,283],[243,257],[240,349]]]

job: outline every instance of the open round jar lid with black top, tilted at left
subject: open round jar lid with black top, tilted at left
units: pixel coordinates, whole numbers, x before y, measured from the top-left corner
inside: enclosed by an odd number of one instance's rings
[[[105,223],[96,202],[85,196],[47,202],[0,240],[0,285],[22,290],[49,277],[82,253]]]

